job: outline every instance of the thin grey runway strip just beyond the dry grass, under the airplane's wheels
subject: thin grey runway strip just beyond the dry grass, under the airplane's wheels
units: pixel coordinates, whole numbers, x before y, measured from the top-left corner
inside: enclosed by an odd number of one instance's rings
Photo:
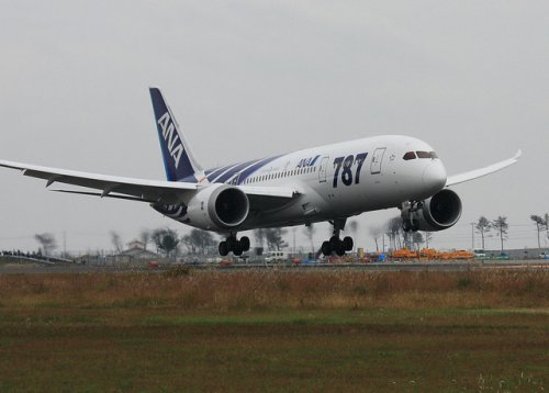
[[[42,265],[42,263],[0,263],[0,274],[44,274],[44,273],[122,273],[122,272],[163,272],[171,266],[161,266],[153,269],[147,267],[127,266],[93,266],[93,265]],[[219,266],[189,265],[191,269],[216,270],[216,271],[238,271],[238,270],[281,270],[292,271],[324,271],[324,270],[362,270],[362,271],[470,271],[486,269],[509,269],[509,270],[547,270],[549,271],[549,260],[517,260],[517,261],[426,261],[426,262],[382,262],[382,263],[314,263],[301,266],[280,265],[229,265]]]

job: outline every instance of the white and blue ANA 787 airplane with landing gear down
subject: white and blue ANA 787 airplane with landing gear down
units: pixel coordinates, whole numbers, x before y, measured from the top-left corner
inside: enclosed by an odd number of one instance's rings
[[[226,236],[219,252],[249,250],[238,232],[329,222],[325,256],[354,247],[340,238],[347,218],[365,212],[401,210],[403,229],[444,231],[461,216],[452,186],[518,161],[522,153],[484,168],[447,177],[433,147],[410,136],[381,135],[203,169],[160,89],[149,88],[167,180],[145,180],[0,160],[24,176],[82,189],[52,191],[148,203],[182,224]]]

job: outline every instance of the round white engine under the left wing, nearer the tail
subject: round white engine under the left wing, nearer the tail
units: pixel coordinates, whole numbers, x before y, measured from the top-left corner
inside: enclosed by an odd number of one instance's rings
[[[240,225],[249,213],[249,201],[240,189],[212,184],[189,201],[188,224],[202,229],[229,229]]]

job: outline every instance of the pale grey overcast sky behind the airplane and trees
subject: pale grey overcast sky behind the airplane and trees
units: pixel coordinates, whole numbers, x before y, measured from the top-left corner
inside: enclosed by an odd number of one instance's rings
[[[463,214],[433,243],[470,247],[471,222],[506,215],[508,246],[535,246],[529,216],[549,211],[548,26],[547,1],[1,0],[0,158],[164,179],[154,85],[204,167],[379,134],[426,141],[449,175],[522,148],[519,164],[455,187]],[[189,231],[18,171],[0,184],[0,249],[36,249],[43,232],[94,250],[112,229]],[[362,214],[358,245],[396,214]]]

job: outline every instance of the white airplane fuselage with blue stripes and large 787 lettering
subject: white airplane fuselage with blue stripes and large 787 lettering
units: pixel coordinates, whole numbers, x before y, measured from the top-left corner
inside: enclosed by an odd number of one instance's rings
[[[235,231],[345,218],[422,201],[445,187],[446,170],[436,155],[405,160],[408,151],[434,153],[419,139],[383,135],[205,171],[201,183],[283,186],[299,192],[288,203],[250,214]]]

